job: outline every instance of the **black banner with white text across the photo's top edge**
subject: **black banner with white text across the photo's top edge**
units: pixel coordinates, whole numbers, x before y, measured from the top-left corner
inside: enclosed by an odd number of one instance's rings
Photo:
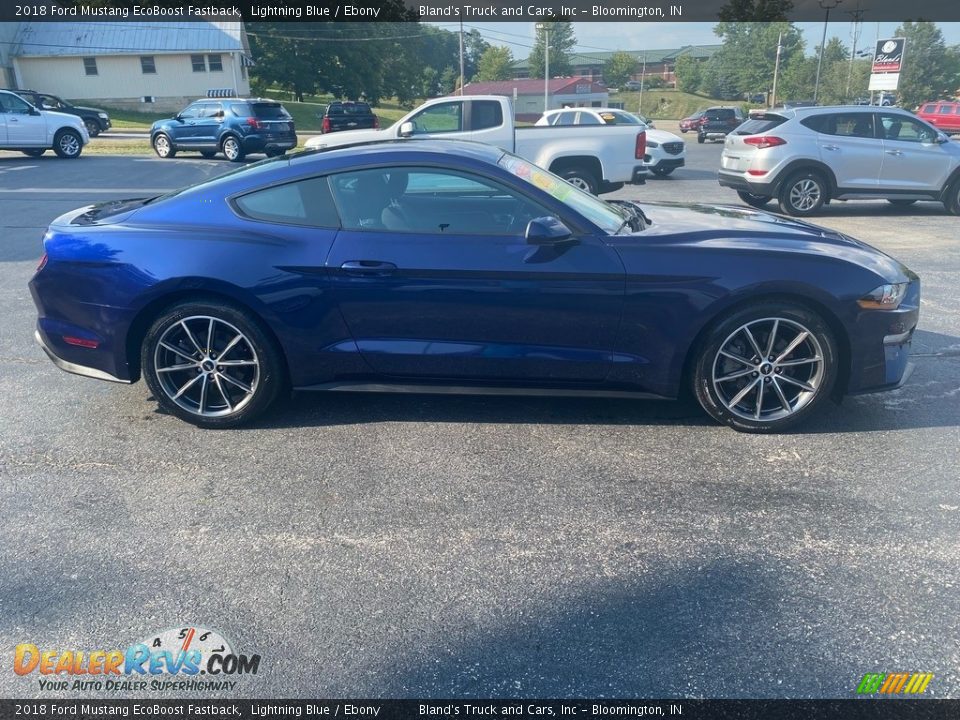
[[[825,5],[834,21],[960,21],[955,0],[4,0],[0,22],[821,22]]]

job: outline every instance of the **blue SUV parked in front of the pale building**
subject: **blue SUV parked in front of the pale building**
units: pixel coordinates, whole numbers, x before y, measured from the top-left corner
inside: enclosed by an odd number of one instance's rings
[[[150,143],[162,158],[187,150],[207,158],[222,152],[240,162],[251,153],[282,155],[297,146],[297,133],[290,113],[276,100],[204,99],[155,122]]]

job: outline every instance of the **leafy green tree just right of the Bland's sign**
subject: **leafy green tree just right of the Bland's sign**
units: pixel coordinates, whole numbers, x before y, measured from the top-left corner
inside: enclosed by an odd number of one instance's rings
[[[926,100],[953,97],[960,85],[960,50],[947,47],[936,23],[905,22],[896,37],[906,38],[898,94],[913,108]]]

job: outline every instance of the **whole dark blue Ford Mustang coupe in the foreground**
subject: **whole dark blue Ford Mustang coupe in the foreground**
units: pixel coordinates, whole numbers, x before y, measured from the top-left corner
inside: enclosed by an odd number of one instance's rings
[[[202,427],[296,390],[675,398],[779,431],[909,374],[920,282],[746,208],[604,202],[487,145],[274,158],[56,219],[30,289],[59,367]]]

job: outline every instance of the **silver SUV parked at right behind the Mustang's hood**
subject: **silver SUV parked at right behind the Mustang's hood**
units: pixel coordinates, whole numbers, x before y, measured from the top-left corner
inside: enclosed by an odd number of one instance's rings
[[[898,108],[807,107],[768,111],[726,139],[723,187],[787,215],[831,200],[942,202],[960,215],[960,143]]]

